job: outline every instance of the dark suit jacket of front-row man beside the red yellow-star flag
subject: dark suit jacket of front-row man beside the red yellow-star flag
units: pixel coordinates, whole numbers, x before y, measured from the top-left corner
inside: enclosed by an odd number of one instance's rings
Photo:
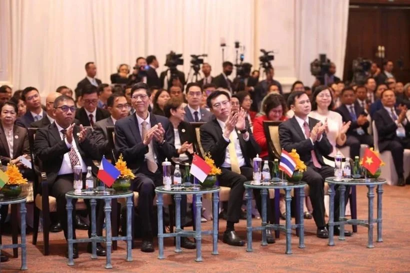
[[[317,122],[319,122],[317,119],[309,117],[310,130]],[[292,149],[296,149],[296,152],[300,156],[300,160],[302,160],[306,165],[308,162],[311,162],[311,150],[314,151],[320,165],[325,165],[322,155],[328,155],[333,150],[333,147],[328,141],[325,133],[322,134],[320,141],[316,141],[314,145],[312,145],[310,139],[306,139],[304,137],[302,129],[294,116],[291,119],[280,123],[279,141],[280,147],[287,152],[291,152]]]

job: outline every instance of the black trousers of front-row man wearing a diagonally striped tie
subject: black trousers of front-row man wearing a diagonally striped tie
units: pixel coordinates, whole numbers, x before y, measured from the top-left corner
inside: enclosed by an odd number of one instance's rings
[[[83,185],[85,185],[85,175],[83,177]],[[57,214],[59,221],[61,223],[62,229],[64,231],[64,237],[67,239],[67,210],[65,208],[67,202],[65,199],[65,194],[69,191],[74,190],[73,188],[73,180],[74,176],[73,174],[67,174],[67,175],[60,175],[57,176],[57,179],[54,181],[54,183],[51,186],[51,193],[50,195],[55,197],[57,201]],[[75,219],[75,203],[76,199],[72,200],[72,205],[73,205],[73,210],[72,210],[72,237],[75,239],[75,225],[74,225],[74,219]],[[88,211],[88,217],[91,216],[91,206],[89,204],[89,200],[84,200],[85,205],[87,207]],[[102,225],[104,223],[104,202],[102,200],[97,200],[97,205],[96,205],[96,234],[97,236],[102,236]],[[91,223],[91,221],[90,221]],[[92,223],[91,223],[92,224]],[[91,237],[91,225],[89,225],[88,228],[88,237]]]

